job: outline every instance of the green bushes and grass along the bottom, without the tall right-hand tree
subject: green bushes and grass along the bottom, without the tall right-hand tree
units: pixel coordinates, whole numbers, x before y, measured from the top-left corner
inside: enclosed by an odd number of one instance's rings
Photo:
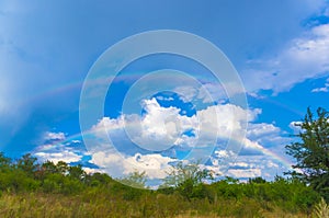
[[[15,213],[26,209],[30,214],[35,210],[31,217],[263,217],[273,213],[280,217],[286,213],[303,217],[311,214],[321,198],[297,177],[276,176],[271,182],[256,177],[247,183],[226,177],[205,184],[203,179],[209,174],[197,164],[179,164],[174,172],[169,175],[174,183],[167,182],[162,188],[151,191],[132,187],[145,186],[145,173],[135,172],[117,182],[104,173],[88,174],[81,165],[63,161],[38,163],[31,154],[13,161],[0,153],[0,204],[4,199],[2,205],[14,202],[14,196],[25,204],[18,200],[19,206],[13,203],[15,206],[2,207],[0,216],[22,217]],[[174,180],[175,176],[183,180]],[[39,207],[39,211],[38,204],[58,209],[49,215],[45,207]]]

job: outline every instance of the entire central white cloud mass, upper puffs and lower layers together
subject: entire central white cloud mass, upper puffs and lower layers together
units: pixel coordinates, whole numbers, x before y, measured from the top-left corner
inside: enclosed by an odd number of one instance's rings
[[[270,151],[261,144],[265,141],[266,137],[280,138],[282,133],[280,128],[273,124],[250,124],[247,131],[248,138],[237,136],[243,133],[247,123],[256,119],[261,113],[260,110],[243,110],[231,104],[213,105],[196,111],[195,115],[188,117],[181,115],[177,107],[162,107],[156,99],[145,100],[143,104],[145,110],[143,116],[131,114],[122,115],[118,118],[104,117],[91,129],[95,136],[94,140],[99,140],[94,144],[99,147],[91,150],[91,162],[114,177],[121,177],[137,170],[145,171],[150,179],[163,179],[171,164],[179,158],[161,154],[160,148],[169,148],[169,150],[185,148],[186,151],[192,149],[195,151],[194,153],[209,157],[212,164],[203,167],[217,175],[249,177],[268,174],[272,176],[275,174],[272,171],[279,172],[281,169],[280,160],[266,157]],[[192,135],[184,134],[189,129],[192,129]],[[111,141],[106,139],[109,136]],[[136,149],[135,152],[126,152],[129,147],[125,142],[127,137],[139,145],[139,148],[148,148],[149,151],[141,152],[141,149],[138,152]],[[257,151],[258,156],[245,153],[241,158],[237,157],[234,151],[226,150],[229,137],[239,140],[243,145],[243,149]],[[258,141],[251,138],[261,138],[262,140]],[[163,141],[168,144],[168,147],[163,147]],[[220,145],[223,141],[225,145]],[[156,147],[151,147],[151,145]],[[214,148],[215,150],[213,150]],[[208,153],[201,152],[207,150],[211,151]],[[197,160],[196,157],[201,156],[189,156],[186,161]],[[254,157],[262,157],[262,159]],[[258,162],[253,160],[258,160]],[[270,170],[264,169],[266,167]]]

